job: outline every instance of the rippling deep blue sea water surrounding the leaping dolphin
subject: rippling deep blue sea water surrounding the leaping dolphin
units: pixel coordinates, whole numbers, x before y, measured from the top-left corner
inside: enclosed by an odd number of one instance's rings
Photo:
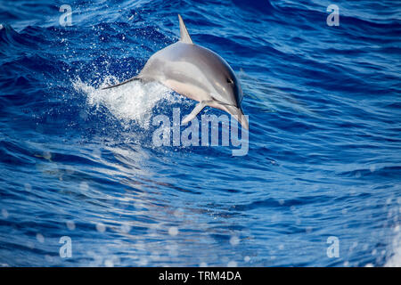
[[[195,104],[161,85],[100,90],[177,13],[241,80],[245,156],[155,146]],[[399,2],[2,0],[0,24],[0,265],[401,265]]]

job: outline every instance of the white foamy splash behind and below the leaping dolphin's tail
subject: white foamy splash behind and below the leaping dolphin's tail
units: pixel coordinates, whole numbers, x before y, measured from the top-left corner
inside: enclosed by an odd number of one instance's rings
[[[72,85],[78,92],[86,94],[89,106],[103,106],[118,119],[129,122],[134,120],[144,129],[148,129],[152,117],[152,109],[162,100],[168,103],[180,102],[183,99],[176,96],[166,86],[157,82],[143,84],[133,81],[116,88],[102,90],[102,87],[117,82],[115,77],[106,77],[99,87],[94,87],[77,78]]]

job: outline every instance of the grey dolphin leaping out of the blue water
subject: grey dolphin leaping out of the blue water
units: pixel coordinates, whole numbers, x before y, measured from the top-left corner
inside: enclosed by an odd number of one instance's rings
[[[151,55],[141,72],[124,82],[102,89],[127,84],[133,80],[158,81],[192,100],[199,102],[186,116],[183,125],[190,122],[206,106],[231,114],[241,126],[249,129],[241,110],[243,97],[239,80],[233,69],[217,53],[195,45],[178,14],[180,40]]]

